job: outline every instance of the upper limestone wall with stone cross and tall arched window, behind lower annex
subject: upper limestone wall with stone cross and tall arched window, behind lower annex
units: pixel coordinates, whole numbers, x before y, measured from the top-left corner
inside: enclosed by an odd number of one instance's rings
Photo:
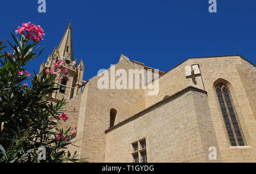
[[[185,77],[185,66],[198,64],[201,75],[195,80]],[[159,78],[159,94],[147,96],[146,107],[172,95],[186,86],[195,86],[208,92],[208,103],[214,130],[224,162],[255,162],[255,66],[241,56],[189,58]],[[196,83],[195,83],[196,82]],[[238,120],[247,146],[230,147],[214,87],[217,83],[229,86]],[[199,102],[197,100],[196,102]]]

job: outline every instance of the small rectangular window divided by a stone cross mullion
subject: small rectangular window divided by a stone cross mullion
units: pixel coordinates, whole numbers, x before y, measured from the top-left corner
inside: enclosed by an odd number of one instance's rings
[[[145,142],[144,145],[145,147],[142,148],[142,142]],[[142,138],[139,141],[135,141],[133,143],[131,143],[131,147],[133,152],[131,153],[132,157],[133,157],[133,163],[148,163],[147,160],[147,142],[146,142],[146,138]],[[142,158],[142,154],[146,154],[146,162],[143,162],[143,158]],[[135,161],[134,157],[138,157],[138,160]]]

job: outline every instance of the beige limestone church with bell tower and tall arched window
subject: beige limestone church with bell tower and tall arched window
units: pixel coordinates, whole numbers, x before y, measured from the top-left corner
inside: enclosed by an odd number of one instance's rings
[[[57,83],[72,88],[57,86],[57,94],[50,96],[54,102],[64,97],[67,111],[76,108],[62,126],[77,126],[71,141],[79,147],[69,150],[77,151],[78,158],[106,163],[256,162],[256,68],[242,56],[187,58],[163,72],[121,54],[115,72],[150,70],[158,75],[139,88],[100,88],[102,75],[111,74],[113,67],[83,80],[86,63],[73,60],[72,49],[69,24],[39,74],[58,60],[64,61],[61,70],[68,69]],[[147,74],[139,75],[141,81],[143,77]],[[111,80],[109,76],[109,86]],[[158,84],[154,95],[152,84]]]

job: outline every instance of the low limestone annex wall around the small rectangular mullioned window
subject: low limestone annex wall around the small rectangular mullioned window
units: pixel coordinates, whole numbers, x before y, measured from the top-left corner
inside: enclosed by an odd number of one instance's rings
[[[208,146],[218,145],[205,101],[206,92],[188,87],[106,130],[105,162],[133,162],[131,143],[143,138],[148,162],[208,162]]]

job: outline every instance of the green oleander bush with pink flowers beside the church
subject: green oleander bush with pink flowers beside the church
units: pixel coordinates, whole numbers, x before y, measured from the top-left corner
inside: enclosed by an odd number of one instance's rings
[[[53,104],[47,96],[56,92],[56,78],[67,74],[67,70],[59,69],[63,62],[60,60],[55,69],[44,70],[42,75],[35,71],[31,75],[24,67],[42,53],[44,48],[40,49],[38,44],[44,31],[28,22],[15,32],[18,37],[11,33],[13,44],[0,41],[0,162],[81,162],[76,159],[76,152],[67,151],[77,128],[59,128],[60,120],[68,120],[63,112],[67,102]],[[7,49],[12,51],[6,53]],[[42,155],[39,147],[46,150],[43,160],[38,158]]]

